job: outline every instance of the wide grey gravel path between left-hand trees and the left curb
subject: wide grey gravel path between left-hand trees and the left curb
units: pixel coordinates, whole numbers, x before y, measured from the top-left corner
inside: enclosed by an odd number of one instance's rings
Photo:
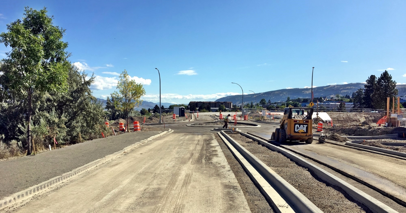
[[[45,151],[35,156],[0,161],[0,198],[69,172],[164,131],[163,128],[157,127],[150,130],[121,133],[118,136]]]

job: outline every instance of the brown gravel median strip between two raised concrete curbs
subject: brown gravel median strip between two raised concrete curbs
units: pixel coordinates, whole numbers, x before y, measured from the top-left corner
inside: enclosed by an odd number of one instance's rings
[[[271,151],[241,135],[231,135],[231,137],[298,189],[322,211],[328,213],[370,212],[363,204],[354,201],[341,191],[342,189],[323,183],[317,177],[312,176],[307,169],[298,166],[281,153]]]

